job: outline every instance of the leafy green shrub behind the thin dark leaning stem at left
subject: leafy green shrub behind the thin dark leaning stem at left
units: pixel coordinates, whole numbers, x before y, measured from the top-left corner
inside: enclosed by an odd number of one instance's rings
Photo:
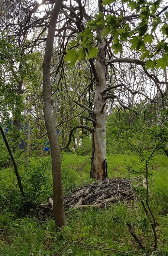
[[[29,166],[22,164],[19,173],[23,184],[23,190],[29,205],[39,204],[52,195],[52,171],[51,159],[36,158],[30,160]],[[22,210],[23,198],[18,188],[13,168],[0,171],[0,205],[1,209]]]

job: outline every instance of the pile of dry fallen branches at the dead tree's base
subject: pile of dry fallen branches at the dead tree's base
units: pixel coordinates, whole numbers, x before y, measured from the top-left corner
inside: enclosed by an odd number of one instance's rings
[[[86,207],[103,207],[108,206],[116,201],[134,200],[133,182],[138,181],[136,177],[132,180],[126,178],[114,178],[104,180],[102,182],[94,181],[83,187],[78,187],[64,198],[64,207],[82,209]],[[141,184],[136,184],[141,185]],[[41,204],[40,207],[53,208],[53,200],[49,197],[49,202]]]

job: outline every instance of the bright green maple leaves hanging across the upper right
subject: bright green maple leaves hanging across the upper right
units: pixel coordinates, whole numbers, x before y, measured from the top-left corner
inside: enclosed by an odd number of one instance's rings
[[[105,0],[103,4],[107,5],[113,2],[116,1]],[[153,70],[160,67],[165,69],[168,66],[168,45],[165,40],[163,39],[157,43],[155,41],[153,50],[149,47],[154,41],[153,33],[157,29],[162,33],[163,37],[168,37],[168,25],[159,16],[162,1],[159,0],[152,3],[145,0],[123,0],[122,2],[127,4],[127,7],[133,12],[130,17],[125,17],[123,10],[118,16],[113,14],[103,16],[102,12],[96,14],[95,19],[87,23],[84,32],[79,33],[77,40],[71,42],[70,47],[76,46],[77,49],[66,51],[65,61],[69,61],[69,66],[74,66],[77,59],[83,61],[86,54],[88,58],[97,57],[99,52],[98,43],[101,43],[102,39],[107,38],[109,35],[113,38],[111,48],[114,49],[115,54],[122,51],[122,42],[129,42],[131,44],[130,49],[139,51],[141,53],[140,59],[146,60],[146,69],[151,68]],[[133,16],[136,20],[132,28],[129,20]],[[162,23],[163,25],[159,28]],[[99,33],[100,30],[103,38]],[[162,58],[154,60],[154,57],[160,52],[163,53]]]

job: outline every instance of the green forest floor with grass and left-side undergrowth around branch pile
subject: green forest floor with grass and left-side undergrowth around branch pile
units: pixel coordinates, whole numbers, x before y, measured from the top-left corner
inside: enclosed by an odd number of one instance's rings
[[[136,155],[110,155],[108,158],[109,178],[132,178],[142,175],[144,163]],[[30,158],[29,168],[20,168],[28,186],[35,175],[44,170],[40,197],[37,202],[45,203],[52,196],[50,157]],[[64,153],[62,176],[64,195],[80,184],[93,182],[89,178],[90,156]],[[153,256],[168,255],[168,158],[157,155],[149,166],[150,207],[158,223],[158,252]],[[24,175],[26,175],[24,177]],[[46,175],[46,176],[45,176]],[[151,225],[144,214],[139,200],[115,202],[109,207],[98,209],[68,209],[67,226],[55,232],[52,217],[37,218],[32,212],[30,218],[18,217],[14,211],[19,206],[15,177],[11,168],[0,170],[0,256],[68,256],[68,255],[151,255],[154,238]],[[33,178],[32,178],[33,176]],[[24,180],[25,179],[25,180]],[[12,195],[10,195],[12,192]],[[136,191],[135,191],[136,192]],[[10,197],[9,197],[10,195]],[[10,202],[10,207],[8,207]],[[13,208],[12,208],[13,207]],[[134,232],[141,238],[146,250],[143,252],[130,235],[127,223],[134,224]],[[106,250],[106,248],[113,250]],[[118,252],[115,250],[123,251]],[[132,251],[127,253],[127,251]],[[134,254],[138,252],[139,254]]]

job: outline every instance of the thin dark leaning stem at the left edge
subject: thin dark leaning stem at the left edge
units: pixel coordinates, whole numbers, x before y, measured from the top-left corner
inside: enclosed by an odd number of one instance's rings
[[[18,172],[18,167],[16,165],[15,159],[13,157],[13,154],[12,154],[12,152],[10,150],[10,147],[9,147],[9,144],[8,144],[8,140],[7,140],[6,136],[5,136],[5,133],[4,133],[1,125],[0,125],[0,131],[2,133],[5,145],[6,145],[7,149],[8,149],[9,155],[10,155],[12,163],[13,163],[13,167],[14,167],[14,170],[15,170],[15,174],[16,174],[16,178],[17,178],[17,181],[18,181],[18,185],[19,185],[19,189],[20,189],[21,195],[25,199],[26,197],[25,197],[24,192],[23,192],[23,186],[22,186],[21,178],[20,178],[20,175],[19,175],[19,172]],[[27,209],[27,204],[26,203],[23,203],[23,209],[24,209],[24,215],[27,216],[28,215],[28,209]]]

